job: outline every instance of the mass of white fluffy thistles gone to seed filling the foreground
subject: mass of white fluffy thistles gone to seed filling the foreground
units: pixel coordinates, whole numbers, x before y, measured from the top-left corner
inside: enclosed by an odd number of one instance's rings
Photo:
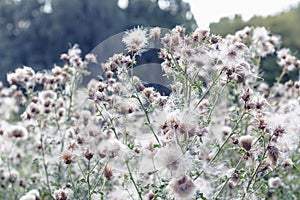
[[[63,66],[7,75],[1,199],[297,199],[300,80],[282,78],[300,62],[280,36],[137,27],[122,43],[104,63],[75,45]],[[135,74],[153,43],[168,95]],[[270,54],[273,86],[260,74]],[[104,73],[84,87],[90,62]]]

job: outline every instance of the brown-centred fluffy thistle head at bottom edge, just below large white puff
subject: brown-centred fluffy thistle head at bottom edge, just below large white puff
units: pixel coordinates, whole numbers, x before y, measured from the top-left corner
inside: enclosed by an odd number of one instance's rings
[[[173,178],[169,183],[169,188],[180,199],[191,199],[196,191],[196,185],[187,175]]]

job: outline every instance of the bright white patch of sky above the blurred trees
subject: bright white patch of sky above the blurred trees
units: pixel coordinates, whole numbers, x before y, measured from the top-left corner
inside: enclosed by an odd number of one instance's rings
[[[274,15],[300,0],[184,0],[191,5],[191,11],[199,27],[208,27],[210,22],[218,22],[222,17],[233,17],[241,14],[248,20],[254,15]]]

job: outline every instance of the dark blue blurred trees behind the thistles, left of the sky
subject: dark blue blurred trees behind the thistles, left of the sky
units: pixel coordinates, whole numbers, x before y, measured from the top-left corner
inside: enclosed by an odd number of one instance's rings
[[[182,0],[125,3],[121,9],[118,0],[0,0],[0,80],[22,65],[52,67],[75,43],[88,53],[135,26],[196,27],[189,4]]]

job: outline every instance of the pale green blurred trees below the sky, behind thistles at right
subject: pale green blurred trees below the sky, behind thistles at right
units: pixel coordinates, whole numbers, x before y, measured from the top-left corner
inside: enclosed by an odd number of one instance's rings
[[[297,7],[289,11],[281,12],[274,16],[259,17],[254,16],[249,21],[243,21],[240,15],[235,15],[233,19],[221,18],[218,23],[211,23],[211,31],[225,36],[233,34],[245,26],[265,26],[273,34],[281,35],[282,47],[290,48],[299,58],[300,50],[300,3]],[[275,78],[279,76],[281,69],[276,66],[276,55],[269,56],[262,60],[262,74],[267,83],[272,85]],[[298,79],[297,72],[285,75],[283,81],[288,79]]]

